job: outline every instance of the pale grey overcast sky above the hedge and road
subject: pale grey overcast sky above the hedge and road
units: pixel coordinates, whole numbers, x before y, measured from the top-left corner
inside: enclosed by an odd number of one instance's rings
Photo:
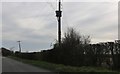
[[[57,39],[56,2],[3,2],[2,46],[22,51],[49,49]],[[118,39],[117,2],[62,3],[62,36],[68,27],[91,36],[91,43]]]

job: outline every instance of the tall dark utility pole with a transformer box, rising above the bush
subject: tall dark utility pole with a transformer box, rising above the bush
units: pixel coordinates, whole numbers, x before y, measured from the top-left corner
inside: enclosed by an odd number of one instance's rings
[[[56,10],[56,17],[57,17],[57,20],[58,20],[58,42],[59,42],[59,45],[61,44],[61,0],[59,0],[59,4],[58,4],[58,10]]]

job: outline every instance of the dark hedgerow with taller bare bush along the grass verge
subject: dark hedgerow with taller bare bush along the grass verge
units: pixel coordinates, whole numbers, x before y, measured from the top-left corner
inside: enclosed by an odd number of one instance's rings
[[[90,36],[80,35],[73,28],[64,34],[61,44],[34,53],[16,52],[12,55],[70,66],[105,66],[120,69],[120,40],[91,44]]]

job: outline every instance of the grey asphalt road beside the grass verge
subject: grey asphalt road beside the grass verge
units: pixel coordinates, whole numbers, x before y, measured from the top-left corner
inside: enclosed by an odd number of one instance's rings
[[[51,72],[7,57],[2,58],[2,72]]]

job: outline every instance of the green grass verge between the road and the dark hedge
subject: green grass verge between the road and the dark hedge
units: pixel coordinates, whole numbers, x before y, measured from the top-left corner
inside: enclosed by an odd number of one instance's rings
[[[49,63],[45,61],[26,60],[17,57],[10,57],[10,58],[19,60],[23,63],[31,64],[40,68],[44,68],[56,72],[116,72],[102,67],[86,67],[86,66],[73,67],[73,66],[65,66],[63,64]]]

